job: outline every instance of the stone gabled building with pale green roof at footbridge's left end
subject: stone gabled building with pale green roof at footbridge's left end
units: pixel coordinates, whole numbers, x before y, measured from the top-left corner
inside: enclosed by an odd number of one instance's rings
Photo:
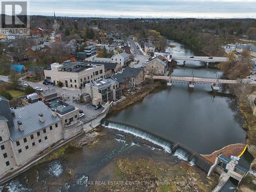
[[[165,62],[163,62],[159,58],[155,58],[150,62],[146,63],[145,71],[147,74],[164,75],[164,69],[166,66],[167,65]]]

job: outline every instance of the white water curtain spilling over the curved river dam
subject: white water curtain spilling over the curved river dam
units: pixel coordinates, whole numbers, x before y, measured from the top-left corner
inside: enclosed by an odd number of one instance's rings
[[[108,127],[110,129],[114,129],[114,130],[119,130],[119,131],[123,131],[125,133],[130,133],[136,137],[140,137],[142,139],[148,140],[158,146],[161,146],[165,152],[167,153],[172,153],[172,145],[173,143],[170,141],[167,141],[161,137],[158,137],[154,134],[145,132],[143,130],[137,129],[135,127],[129,126],[129,125],[125,125],[125,124],[120,124],[120,123],[114,123],[114,122],[108,122],[106,123],[106,121],[104,121],[102,123],[103,126]]]

